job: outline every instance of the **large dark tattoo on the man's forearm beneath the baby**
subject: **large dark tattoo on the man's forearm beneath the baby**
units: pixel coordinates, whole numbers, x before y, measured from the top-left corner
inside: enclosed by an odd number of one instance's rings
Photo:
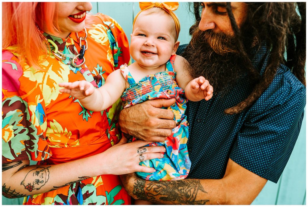
[[[145,181],[136,179],[133,194],[137,199],[157,204],[204,205],[209,200],[196,199],[197,193],[207,193],[200,180]]]

